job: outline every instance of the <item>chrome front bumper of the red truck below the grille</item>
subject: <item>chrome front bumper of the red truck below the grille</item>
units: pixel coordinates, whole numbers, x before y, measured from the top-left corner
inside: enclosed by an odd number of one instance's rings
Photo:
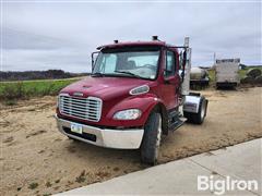
[[[83,126],[83,134],[75,134],[71,132],[70,121],[60,119],[57,115],[56,120],[58,128],[62,134],[74,139],[107,148],[138,149],[140,148],[144,134],[143,128],[109,130],[84,124],[81,124]]]

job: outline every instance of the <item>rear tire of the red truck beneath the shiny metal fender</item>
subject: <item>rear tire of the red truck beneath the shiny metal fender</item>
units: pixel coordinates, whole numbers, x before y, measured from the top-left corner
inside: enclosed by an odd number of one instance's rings
[[[200,106],[198,113],[183,112],[183,115],[188,119],[188,122],[194,124],[202,124],[206,115],[207,100],[204,97],[200,99]]]

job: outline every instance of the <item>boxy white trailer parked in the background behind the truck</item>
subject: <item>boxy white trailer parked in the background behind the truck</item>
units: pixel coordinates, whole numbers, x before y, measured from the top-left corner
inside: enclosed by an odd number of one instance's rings
[[[215,63],[216,87],[236,87],[240,59],[217,59]]]

